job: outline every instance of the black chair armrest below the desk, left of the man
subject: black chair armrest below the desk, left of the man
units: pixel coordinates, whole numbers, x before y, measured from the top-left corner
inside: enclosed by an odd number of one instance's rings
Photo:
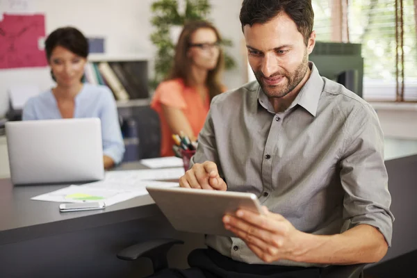
[[[172,238],[158,238],[143,243],[131,245],[117,254],[117,258],[133,261],[143,256],[151,259],[154,272],[168,267],[167,252],[174,244],[183,244],[182,240]]]

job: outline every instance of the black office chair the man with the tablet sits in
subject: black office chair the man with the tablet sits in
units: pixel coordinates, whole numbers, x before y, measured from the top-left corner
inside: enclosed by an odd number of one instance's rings
[[[174,244],[183,244],[182,240],[159,238],[147,240],[122,250],[117,258],[133,261],[140,257],[149,258],[154,266],[154,272],[168,268],[167,252]],[[330,265],[322,272],[323,278],[363,278],[363,268],[366,263],[356,265]]]

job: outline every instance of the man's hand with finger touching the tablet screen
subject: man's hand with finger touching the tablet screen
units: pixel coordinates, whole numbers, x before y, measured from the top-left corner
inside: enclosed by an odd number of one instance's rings
[[[227,190],[227,185],[219,176],[217,165],[206,161],[195,163],[193,167],[179,179],[179,186],[209,190]]]

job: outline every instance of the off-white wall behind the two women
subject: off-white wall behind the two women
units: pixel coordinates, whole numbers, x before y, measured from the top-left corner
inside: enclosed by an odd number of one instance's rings
[[[150,6],[152,0],[34,0],[35,7],[46,17],[47,34],[60,26],[72,25],[87,36],[106,38],[108,57],[152,57],[155,48],[149,40],[152,33]],[[224,37],[234,42],[229,49],[238,64],[236,70],[224,75],[224,84],[234,88],[245,82],[240,44],[243,40],[238,18],[242,0],[211,0],[211,19]],[[0,11],[1,13],[1,11]],[[53,84],[47,67],[0,70],[0,117],[8,107],[7,90],[13,84],[37,84],[47,90]]]

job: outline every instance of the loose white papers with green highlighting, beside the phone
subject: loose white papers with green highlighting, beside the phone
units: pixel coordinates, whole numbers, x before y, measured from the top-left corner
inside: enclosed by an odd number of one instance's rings
[[[31,199],[60,203],[82,203],[85,201],[82,199],[72,199],[71,195],[90,195],[102,197],[100,201],[103,201],[106,206],[111,206],[113,204],[124,202],[128,199],[133,199],[134,197],[138,197],[140,195],[147,195],[146,186],[176,187],[179,185],[178,183],[168,183],[162,181],[139,181],[135,184],[120,183],[115,181],[96,181],[94,183],[85,183],[82,186],[68,186],[66,188],[39,195]],[[88,202],[95,201],[90,200]]]

